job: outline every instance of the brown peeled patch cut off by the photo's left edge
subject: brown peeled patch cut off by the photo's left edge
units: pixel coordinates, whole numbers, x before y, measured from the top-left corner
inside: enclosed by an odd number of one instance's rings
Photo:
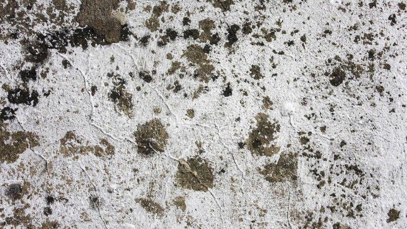
[[[1,121],[0,121],[1,122]],[[33,132],[11,133],[0,123],[0,162],[13,163],[26,149],[40,146],[39,137]]]

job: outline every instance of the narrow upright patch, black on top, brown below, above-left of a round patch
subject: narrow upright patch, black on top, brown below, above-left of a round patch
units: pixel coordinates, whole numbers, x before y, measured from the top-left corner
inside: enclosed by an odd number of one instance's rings
[[[127,92],[125,82],[119,79],[115,87],[109,93],[109,99],[115,104],[115,108],[125,113],[129,118],[133,117],[133,95]]]

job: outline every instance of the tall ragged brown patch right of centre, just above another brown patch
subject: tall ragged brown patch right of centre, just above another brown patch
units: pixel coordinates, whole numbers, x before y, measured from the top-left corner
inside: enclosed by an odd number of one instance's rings
[[[246,139],[246,145],[253,155],[273,156],[280,151],[280,147],[274,144],[277,139],[277,132],[280,132],[280,125],[277,121],[269,121],[268,115],[258,113],[255,117],[257,127],[254,128]]]

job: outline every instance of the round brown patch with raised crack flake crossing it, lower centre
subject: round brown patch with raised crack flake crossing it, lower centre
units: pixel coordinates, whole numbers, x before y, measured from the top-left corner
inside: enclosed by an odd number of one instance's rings
[[[179,160],[176,184],[194,191],[208,191],[213,187],[215,177],[208,160],[193,156]]]

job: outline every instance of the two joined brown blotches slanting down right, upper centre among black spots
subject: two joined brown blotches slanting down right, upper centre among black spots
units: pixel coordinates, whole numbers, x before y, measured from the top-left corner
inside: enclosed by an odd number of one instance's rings
[[[195,74],[198,78],[201,81],[209,82],[215,67],[208,60],[205,50],[197,44],[189,45],[183,55],[196,67]]]

